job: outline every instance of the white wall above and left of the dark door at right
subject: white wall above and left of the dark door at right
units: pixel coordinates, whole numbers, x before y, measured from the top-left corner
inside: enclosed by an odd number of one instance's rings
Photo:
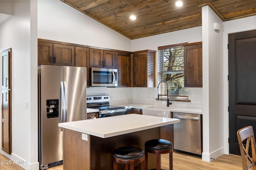
[[[226,21],[223,23],[223,116],[224,116],[224,148],[229,153],[228,144],[228,34],[256,29],[256,16]]]

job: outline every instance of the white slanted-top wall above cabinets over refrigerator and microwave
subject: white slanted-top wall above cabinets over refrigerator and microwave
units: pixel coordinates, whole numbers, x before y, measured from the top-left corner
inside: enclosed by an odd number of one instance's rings
[[[38,38],[131,51],[131,40],[61,1],[38,1]]]

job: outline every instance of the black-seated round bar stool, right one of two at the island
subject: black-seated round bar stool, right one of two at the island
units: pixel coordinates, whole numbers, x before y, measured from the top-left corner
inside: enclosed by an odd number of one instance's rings
[[[148,153],[156,154],[156,170],[161,167],[161,154],[169,153],[169,166],[172,170],[172,143],[165,139],[152,139],[145,142],[145,170],[148,170]]]

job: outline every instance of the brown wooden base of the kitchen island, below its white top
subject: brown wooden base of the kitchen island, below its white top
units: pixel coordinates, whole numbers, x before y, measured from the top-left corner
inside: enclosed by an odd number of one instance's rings
[[[82,133],[64,129],[63,169],[112,170],[112,155],[116,148],[135,146],[144,150],[146,141],[159,138],[160,127],[108,138],[88,135],[88,141],[82,140]],[[156,155],[149,154],[148,168],[155,167]],[[136,164],[135,170],[139,169],[139,164]],[[118,164],[118,170],[124,170],[124,165]]]

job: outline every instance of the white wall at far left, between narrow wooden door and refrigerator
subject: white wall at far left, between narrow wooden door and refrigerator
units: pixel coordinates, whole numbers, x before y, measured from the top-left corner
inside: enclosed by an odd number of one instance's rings
[[[0,25],[0,51],[12,48],[12,154],[0,152],[37,170],[37,1],[14,1],[13,15]]]

